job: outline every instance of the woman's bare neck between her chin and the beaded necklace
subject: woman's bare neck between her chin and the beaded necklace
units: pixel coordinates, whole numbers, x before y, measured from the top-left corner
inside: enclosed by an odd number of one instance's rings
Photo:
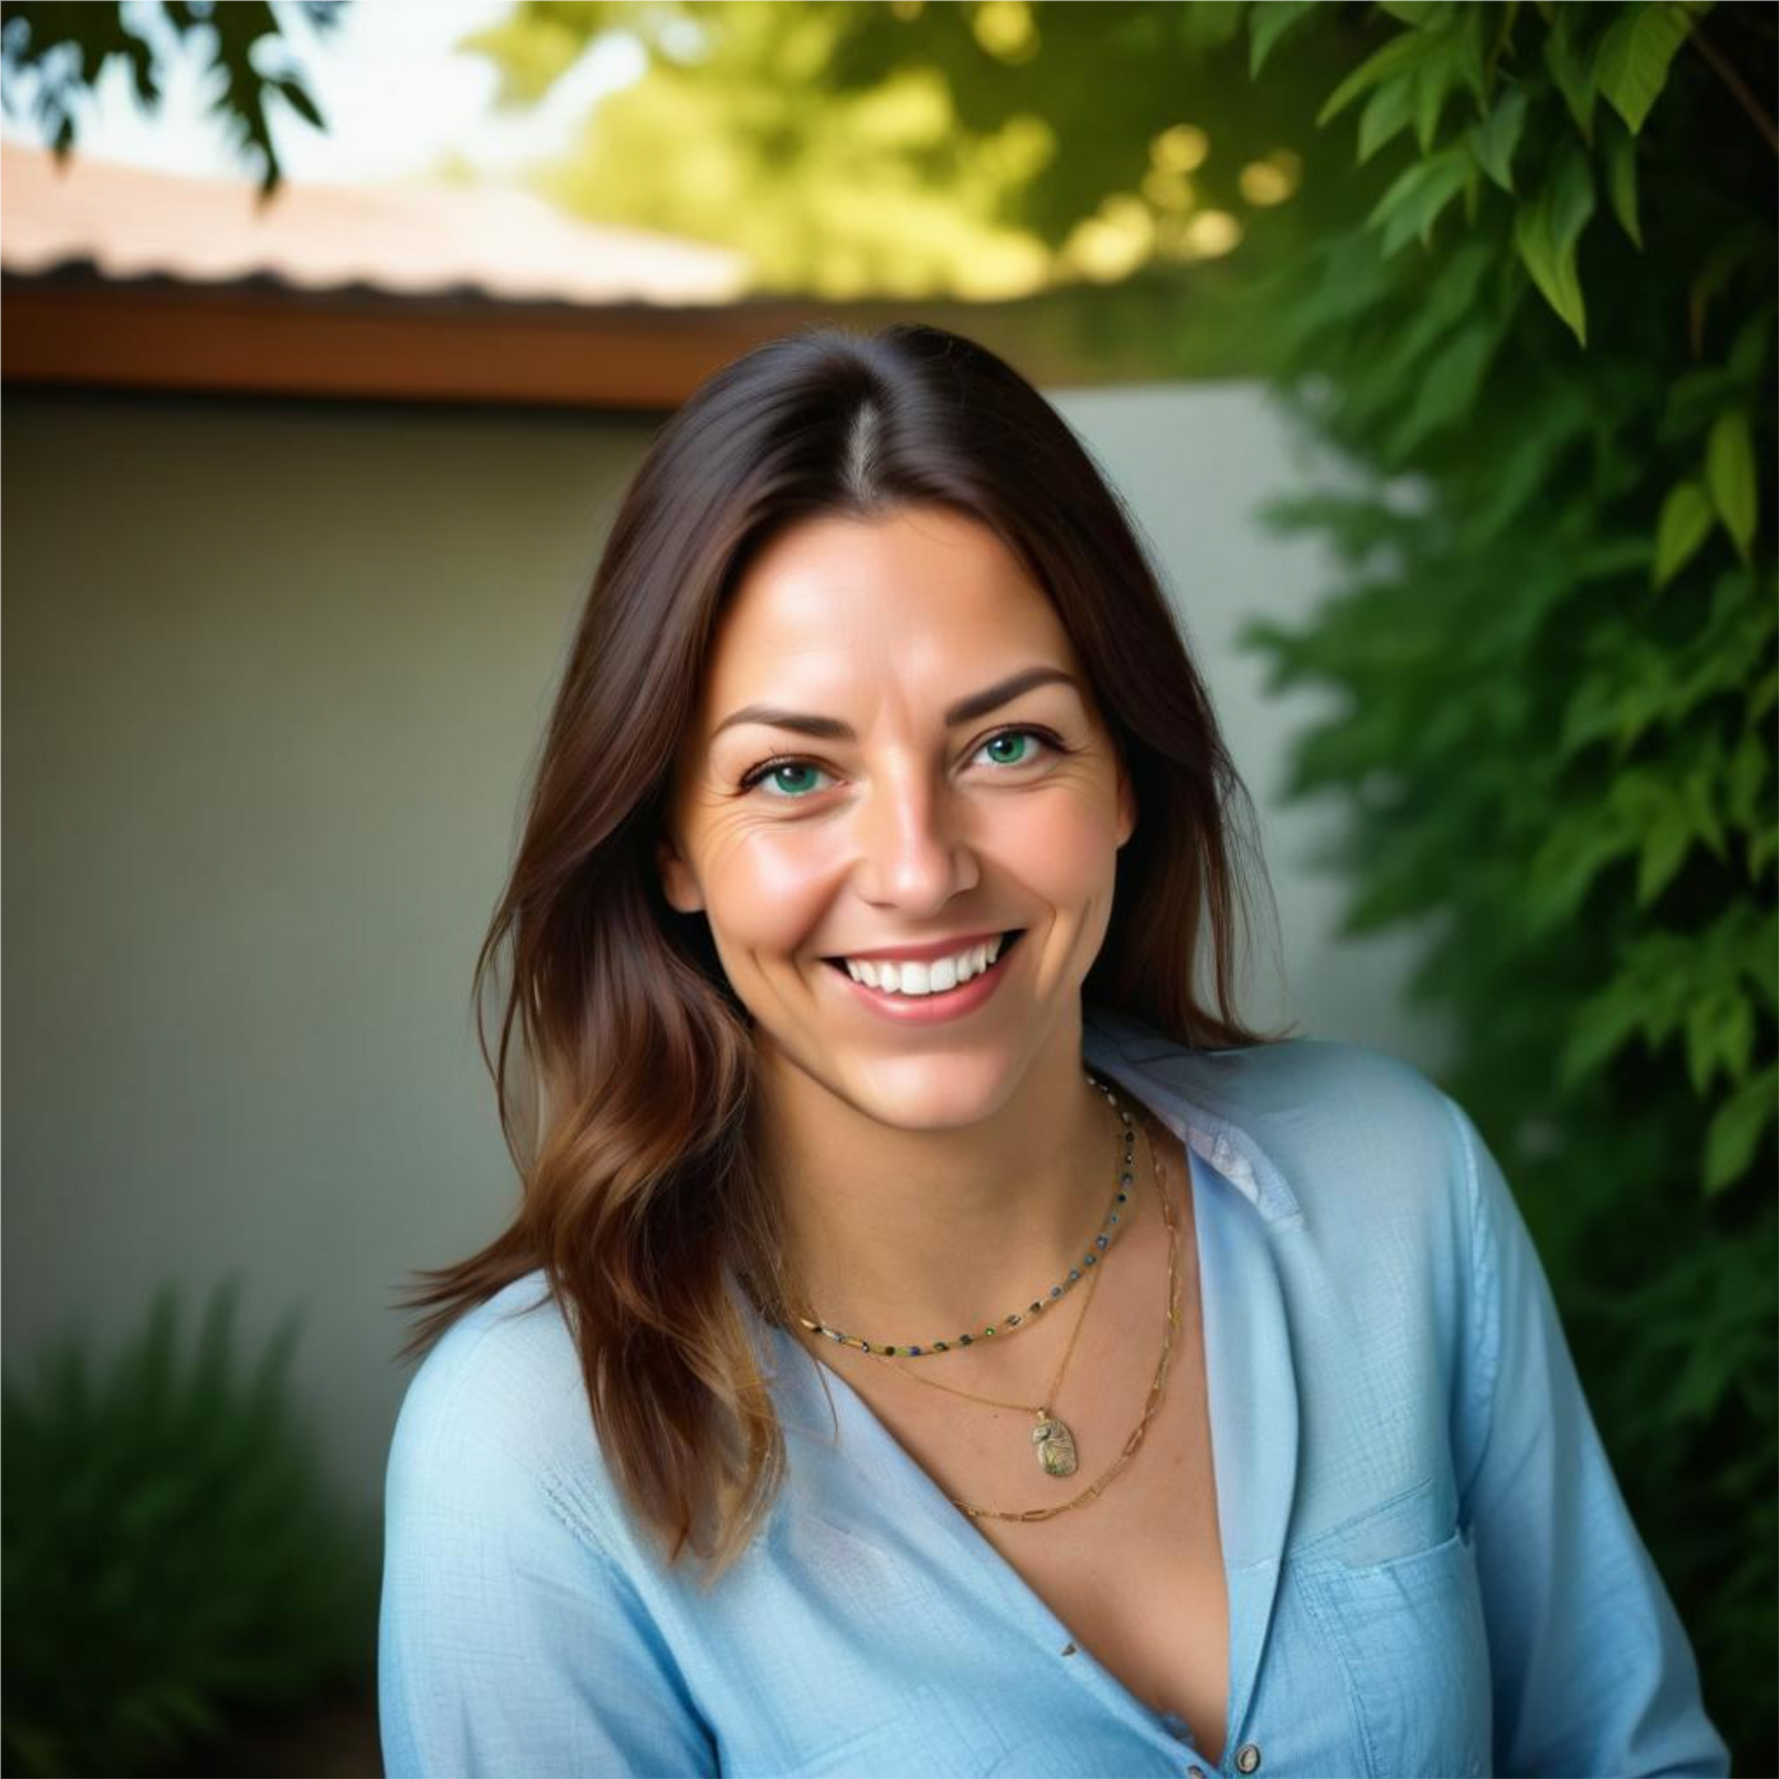
[[[1112,1203],[1121,1123],[1078,1042],[946,1128],[886,1124],[783,1060],[767,1080],[758,1135],[792,1308],[847,1334],[927,1343],[1023,1311],[1080,1263]]]

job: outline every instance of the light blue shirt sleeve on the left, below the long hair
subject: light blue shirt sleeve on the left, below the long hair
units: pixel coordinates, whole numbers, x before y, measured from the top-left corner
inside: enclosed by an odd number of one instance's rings
[[[388,1779],[715,1774],[671,1653],[534,1423],[523,1393],[473,1373],[422,1366],[409,1386],[384,1500]]]

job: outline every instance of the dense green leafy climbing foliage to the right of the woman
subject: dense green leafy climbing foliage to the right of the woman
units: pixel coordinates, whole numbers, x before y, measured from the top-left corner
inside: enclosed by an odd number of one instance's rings
[[[1247,640],[1340,694],[1292,790],[1348,811],[1347,930],[1436,918],[1414,998],[1455,1019],[1450,1085],[1541,1236],[1708,1704],[1767,1770],[1779,34],[1754,4],[1388,11],[1322,105],[1372,94],[1350,219],[1256,294],[1270,374],[1363,493],[1272,512],[1341,580]]]

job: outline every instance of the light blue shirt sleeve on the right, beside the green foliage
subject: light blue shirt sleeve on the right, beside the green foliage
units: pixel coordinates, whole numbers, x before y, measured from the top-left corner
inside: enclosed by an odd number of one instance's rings
[[[1450,1098],[1469,1195],[1459,1512],[1471,1526],[1498,1774],[1720,1779],[1692,1646],[1619,1493],[1544,1267]]]

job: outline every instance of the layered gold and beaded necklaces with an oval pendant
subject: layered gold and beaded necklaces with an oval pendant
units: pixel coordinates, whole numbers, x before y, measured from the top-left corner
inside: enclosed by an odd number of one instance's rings
[[[975,1391],[970,1389],[957,1389],[952,1384],[941,1384],[934,1377],[923,1377],[918,1372],[904,1368],[902,1364],[895,1363],[897,1359],[918,1359],[934,1352],[948,1352],[954,1348],[970,1347],[975,1343],[978,1336],[964,1334],[955,1341],[932,1341],[927,1345],[914,1345],[902,1341],[868,1341],[859,1336],[843,1334],[840,1329],[834,1329],[829,1324],[820,1322],[813,1316],[804,1316],[804,1315],[797,1316],[797,1320],[811,1332],[824,1334],[827,1340],[833,1340],[843,1347],[856,1347],[859,1352],[868,1354],[879,1364],[886,1364],[890,1366],[890,1370],[900,1372],[904,1377],[909,1377],[918,1384],[927,1384],[932,1389],[943,1389],[946,1391],[946,1395],[964,1397],[970,1402],[984,1402],[989,1404],[991,1407],[1019,1409],[1025,1414],[1032,1414],[1035,1418],[1035,1425],[1032,1427],[1030,1434],[1034,1455],[1037,1459],[1039,1469],[1046,1477],[1055,1477],[1055,1478],[1073,1477],[1080,1468],[1080,1448],[1075,1432],[1055,1413],[1057,1391],[1062,1388],[1062,1379],[1069,1368],[1069,1359],[1075,1354],[1075,1345],[1080,1340],[1082,1325],[1087,1322],[1087,1311],[1092,1308],[1092,1295],[1094,1290],[1098,1288],[1099,1274],[1105,1270],[1101,1267],[1101,1258],[1112,1245],[1121,1217],[1123,1217],[1123,1226],[1128,1228],[1130,1217],[1133,1215],[1131,1194],[1135,1190],[1133,1158],[1135,1158],[1137,1139],[1131,1115],[1117,1103],[1117,1098],[1110,1087],[1096,1080],[1092,1075],[1089,1075],[1087,1080],[1094,1087],[1098,1087],[1099,1092],[1105,1094],[1107,1103],[1112,1107],[1114,1112],[1117,1112],[1123,1126],[1121,1128],[1123,1158],[1117,1169],[1117,1187],[1114,1190],[1112,1208],[1107,1213],[1105,1224],[1101,1226],[1099,1233],[1094,1236],[1094,1244],[1083,1252],[1082,1263],[1078,1267],[1071,1267],[1066,1279],[1053,1284],[1046,1295],[1032,1299],[1032,1304],[1026,1311],[1003,1316],[998,1324],[984,1325],[980,1336],[980,1338],[987,1336],[1003,1338],[1003,1332],[1012,1332],[1019,1327],[1028,1325],[1030,1320],[1042,1315],[1042,1311],[1050,1304],[1057,1302],[1082,1277],[1087,1277],[1091,1274],[1087,1292],[1082,1299],[1082,1313],[1075,1318],[1075,1329],[1071,1331],[1069,1341],[1062,1350],[1062,1359],[1057,1364],[1055,1375],[1050,1381],[1050,1388],[1046,1389],[1042,1402],[1039,1404],[1005,1402],[998,1397],[977,1395]],[[1114,1459],[1114,1462],[1107,1469],[1103,1469],[1094,1478],[1092,1484],[1089,1484],[1071,1500],[1059,1501],[1050,1507],[994,1509],[952,1498],[952,1505],[961,1509],[971,1519],[1018,1519],[1018,1521],[1051,1519],[1057,1514],[1069,1512],[1069,1509],[1073,1507],[1083,1507],[1087,1501],[1096,1500],[1099,1493],[1112,1482],[1112,1478],[1117,1477],[1124,1469],[1124,1466],[1130,1464],[1130,1461],[1137,1455],[1137,1450],[1142,1446],[1144,1436],[1149,1430],[1149,1423],[1155,1420],[1155,1414],[1162,1405],[1162,1395],[1167,1388],[1167,1366],[1174,1347],[1174,1331],[1179,1325],[1179,1308],[1178,1308],[1179,1306],[1179,1229],[1174,1220],[1172,1199],[1169,1197],[1167,1185],[1162,1174],[1160,1151],[1156,1149],[1155,1135],[1149,1130],[1147,1119],[1144,1121],[1144,1139],[1149,1146],[1149,1160],[1155,1171],[1156,1197],[1162,1201],[1162,1220],[1167,1226],[1167,1320],[1162,1329],[1162,1357],[1156,1364],[1155,1377],[1149,1382],[1149,1395],[1144,1402],[1142,1416],[1131,1429],[1130,1436],[1124,1439],[1124,1446],[1119,1452],[1117,1459]]]

